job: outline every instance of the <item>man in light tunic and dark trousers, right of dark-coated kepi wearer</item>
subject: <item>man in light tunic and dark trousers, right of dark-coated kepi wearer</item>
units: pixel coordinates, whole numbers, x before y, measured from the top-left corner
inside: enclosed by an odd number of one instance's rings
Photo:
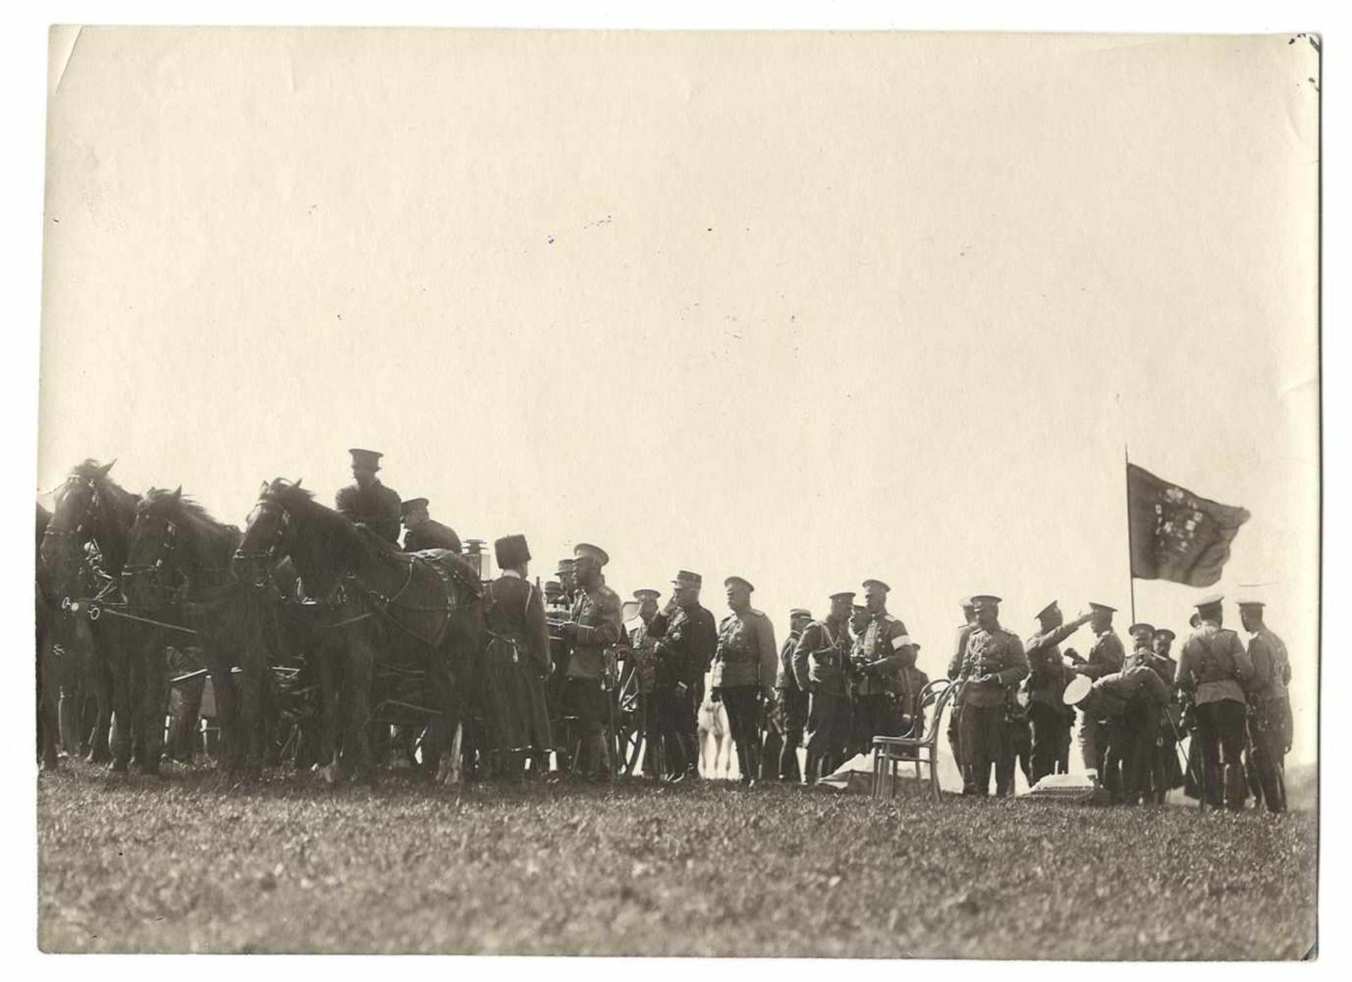
[[[779,651],[771,619],[752,607],[752,591],[756,587],[741,576],[729,576],[723,580],[723,587],[727,590],[727,609],[731,613],[718,625],[710,687],[714,702],[722,702],[727,710],[727,729],[731,730],[733,747],[737,748],[741,783],[750,785],[760,776],[757,701],[775,698]]]

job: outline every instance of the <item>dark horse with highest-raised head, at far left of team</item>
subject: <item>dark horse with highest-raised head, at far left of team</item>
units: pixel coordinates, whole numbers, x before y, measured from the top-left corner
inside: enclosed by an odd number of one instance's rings
[[[77,465],[57,490],[57,510],[42,536],[38,555],[46,586],[54,602],[66,607],[77,601],[119,601],[118,578],[127,561],[127,534],[137,517],[137,496],[108,477],[112,464],[87,460]],[[92,561],[89,552],[97,555]],[[70,617],[49,619],[54,628],[74,630],[82,605],[74,603]],[[89,622],[89,664],[85,682],[93,687],[97,716],[89,759],[112,757],[115,770],[127,770],[131,757],[131,691],[127,667],[132,652],[154,642],[154,637],[130,622],[100,618]],[[50,648],[50,645],[47,645]],[[49,659],[50,661],[50,659]],[[54,688],[47,686],[47,688]],[[49,691],[49,703],[53,694]],[[55,709],[53,709],[55,711]],[[118,716],[110,755],[108,725]],[[138,762],[145,764],[143,755]],[[158,762],[155,762],[158,763]]]

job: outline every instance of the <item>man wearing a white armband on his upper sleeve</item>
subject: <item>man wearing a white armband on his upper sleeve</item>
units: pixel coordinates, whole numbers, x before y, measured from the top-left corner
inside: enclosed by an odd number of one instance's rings
[[[857,633],[854,663],[854,740],[868,748],[875,736],[902,736],[914,714],[915,644],[906,625],[887,613],[891,587],[879,579],[864,580],[868,619]],[[904,717],[904,720],[903,720]]]

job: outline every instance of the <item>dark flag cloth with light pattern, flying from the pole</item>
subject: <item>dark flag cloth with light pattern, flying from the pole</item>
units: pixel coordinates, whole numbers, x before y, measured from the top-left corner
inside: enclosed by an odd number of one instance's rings
[[[1249,513],[1201,498],[1126,465],[1126,509],[1132,533],[1132,576],[1209,587],[1221,579],[1230,542]]]

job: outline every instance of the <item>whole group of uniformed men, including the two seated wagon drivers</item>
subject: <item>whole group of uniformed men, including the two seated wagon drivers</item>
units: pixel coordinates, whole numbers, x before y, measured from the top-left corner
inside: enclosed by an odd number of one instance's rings
[[[400,500],[380,483],[381,454],[350,453],[356,483],[338,492],[339,511],[392,542],[403,525],[406,551],[461,552],[426,498]],[[854,591],[833,594],[821,619],[791,610],[790,636],[777,647],[742,576],[723,582],[729,614],[721,622],[700,603],[700,575],[680,571],[662,606],[660,591],[634,591],[626,630],[626,605],[606,583],[604,549],[577,545],[542,591],[527,579],[522,536],[498,540],[495,553],[502,576],[488,586],[491,642],[476,684],[493,774],[548,772],[553,753],[561,770],[606,780],[614,691],[626,683],[641,709],[642,772],[668,782],[698,775],[706,678],[710,699],[726,709],[745,783],[815,783],[868,751],[873,736],[923,730],[929,678],[917,667],[919,645],[887,610],[883,580],[863,583],[863,603]],[[1026,645],[1000,626],[999,603],[990,594],[963,601],[948,664],[956,686],[948,739],[964,794],[990,794],[994,771],[995,794],[1009,795],[1015,766],[1029,785],[1069,772],[1078,707],[1084,767],[1114,801],[1163,802],[1184,786],[1213,808],[1242,808],[1252,790],[1270,810],[1286,809],[1291,671],[1261,602],[1238,605],[1245,647],[1222,626],[1222,598],[1199,601],[1178,661],[1175,633],[1145,622],[1129,628],[1128,653],[1106,603],[1090,603],[1072,621],[1056,602],[1046,605]],[[1094,634],[1087,657],[1063,653],[1061,642],[1084,625]],[[1180,763],[1184,733],[1192,740]]]

